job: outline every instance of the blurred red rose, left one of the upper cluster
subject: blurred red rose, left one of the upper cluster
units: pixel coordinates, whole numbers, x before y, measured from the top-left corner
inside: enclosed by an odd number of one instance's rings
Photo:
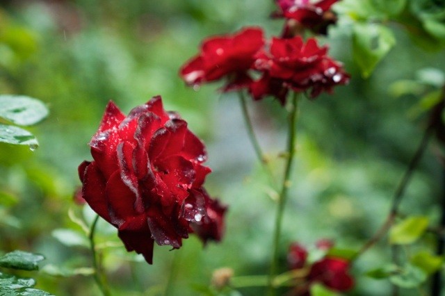
[[[243,88],[251,81],[248,69],[254,56],[264,45],[261,28],[244,28],[234,35],[208,38],[201,45],[201,52],[181,67],[179,74],[188,85],[200,85],[228,79],[224,91]]]

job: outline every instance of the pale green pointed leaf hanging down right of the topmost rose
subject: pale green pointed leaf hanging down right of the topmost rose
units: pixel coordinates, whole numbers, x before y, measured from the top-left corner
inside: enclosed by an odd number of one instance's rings
[[[393,33],[380,24],[355,24],[353,28],[353,56],[362,70],[362,76],[369,77],[375,66],[385,58],[396,44]]]

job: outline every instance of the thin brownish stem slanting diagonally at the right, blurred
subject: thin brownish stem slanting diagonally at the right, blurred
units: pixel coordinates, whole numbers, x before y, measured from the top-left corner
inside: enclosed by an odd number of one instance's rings
[[[374,236],[369,239],[362,247],[362,249],[355,254],[355,256],[351,259],[351,261],[354,261],[362,255],[364,252],[366,252],[369,248],[371,248],[375,243],[377,243],[389,230],[391,225],[393,224],[396,216],[398,215],[398,206],[400,206],[403,195],[405,193],[405,189],[407,188],[407,185],[411,179],[412,173],[414,172],[417,165],[419,165],[419,161],[421,160],[423,153],[426,150],[426,147],[428,147],[428,141],[430,140],[432,128],[431,126],[428,126],[425,133],[423,133],[423,138],[420,142],[419,147],[416,150],[416,153],[412,157],[410,164],[407,167],[407,170],[405,171],[405,174],[403,175],[403,178],[401,182],[398,184],[397,190],[394,193],[393,201],[391,204],[391,210],[389,211],[387,215],[387,219],[382,224],[380,229],[378,229],[377,232],[375,232]]]

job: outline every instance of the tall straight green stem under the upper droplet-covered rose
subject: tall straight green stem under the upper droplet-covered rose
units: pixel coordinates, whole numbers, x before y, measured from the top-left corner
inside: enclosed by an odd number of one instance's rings
[[[283,220],[284,206],[286,205],[287,193],[291,186],[290,176],[293,164],[293,158],[296,151],[296,123],[298,120],[298,94],[293,94],[291,108],[289,110],[289,130],[287,142],[287,162],[284,169],[284,177],[282,181],[282,189],[280,198],[278,199],[277,213],[275,215],[275,229],[273,233],[273,255],[270,264],[270,273],[268,279],[268,295],[275,295],[274,278],[277,274],[278,265],[278,249],[280,246],[281,226]]]

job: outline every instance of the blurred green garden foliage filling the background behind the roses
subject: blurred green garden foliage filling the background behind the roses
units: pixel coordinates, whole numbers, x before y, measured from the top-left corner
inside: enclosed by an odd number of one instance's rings
[[[302,102],[285,242],[310,247],[330,238],[337,247],[359,249],[385,220],[391,196],[419,145],[431,93],[445,80],[445,4],[386,2],[344,0],[336,10],[345,17],[322,40],[352,79],[334,95]],[[230,206],[226,236],[205,248],[195,237],[172,252],[156,247],[154,265],[147,265],[124,251],[113,227],[99,222],[98,244],[113,295],[163,295],[169,278],[174,283],[168,287],[170,295],[197,295],[196,289],[208,285],[211,272],[221,267],[233,268],[236,275],[266,274],[274,202],[266,176],[254,165],[236,97],[216,92],[219,85],[187,88],[177,72],[208,35],[246,25],[278,35],[282,21],[269,19],[273,1],[1,3],[0,94],[38,98],[50,115],[31,129],[39,139],[38,150],[0,143],[0,252],[44,254],[36,276],[42,290],[98,295],[89,276],[82,226],[94,215],[88,206],[73,202],[80,185],[76,167],[91,158],[87,143],[108,100],[127,113],[161,94],[165,108],[177,110],[207,144],[213,170],[207,188]],[[372,50],[366,51],[364,44]],[[369,56],[365,65],[355,63],[357,55]],[[260,142],[281,172],[284,110],[272,99],[252,103],[250,110]],[[401,208],[402,213],[428,216],[431,225],[439,219],[437,204],[444,192],[439,149],[437,143],[430,145]],[[427,234],[410,249],[434,245]],[[288,246],[282,245],[283,271]],[[387,295],[389,283],[364,273],[389,258],[387,242],[359,258],[353,268],[357,287],[350,295]],[[260,290],[240,291],[258,295]],[[417,295],[411,290],[403,295],[410,293]]]

